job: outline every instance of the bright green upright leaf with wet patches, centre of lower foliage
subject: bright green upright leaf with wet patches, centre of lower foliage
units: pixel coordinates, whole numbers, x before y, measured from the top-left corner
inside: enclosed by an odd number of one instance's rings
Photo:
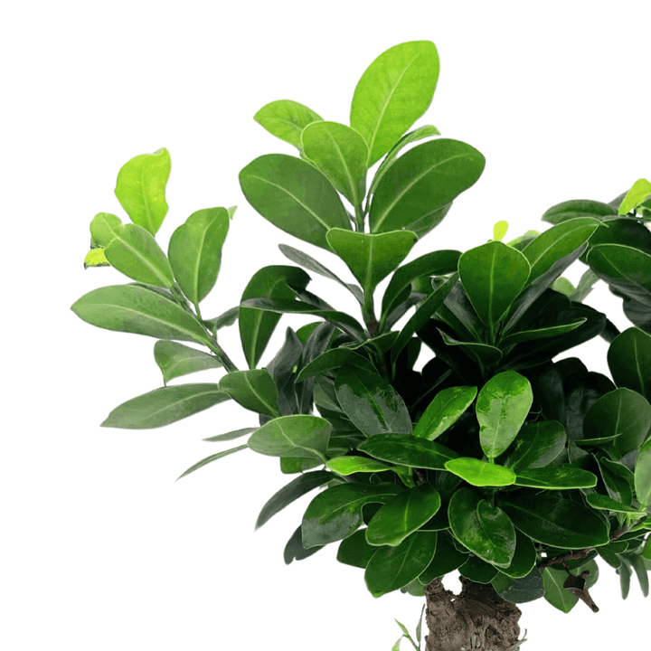
[[[488,458],[501,455],[517,436],[533,404],[531,383],[520,373],[494,375],[476,398],[479,441]]]

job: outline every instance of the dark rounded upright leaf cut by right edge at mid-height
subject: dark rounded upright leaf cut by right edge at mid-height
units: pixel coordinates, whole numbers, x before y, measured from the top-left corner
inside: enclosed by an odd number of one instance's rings
[[[607,359],[618,387],[632,389],[651,402],[651,335],[627,328],[610,344]]]

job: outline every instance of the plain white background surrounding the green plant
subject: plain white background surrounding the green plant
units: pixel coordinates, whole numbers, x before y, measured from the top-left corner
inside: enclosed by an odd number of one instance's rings
[[[70,310],[93,288],[129,281],[114,269],[84,271],[90,220],[97,212],[127,219],[113,194],[119,168],[165,146],[173,165],[157,234],[164,250],[191,212],[239,205],[204,316],[238,305],[260,267],[292,264],[279,242],[353,281],[341,260],[279,231],[244,199],[242,167],[263,154],[297,155],[253,115],[294,99],[347,124],[373,59],[430,40],[439,85],[416,126],[476,146],[486,171],[405,261],[482,244],[499,220],[510,224],[505,241],[544,231],[540,217],[554,203],[609,202],[651,174],[650,20],[645,2],[567,0],[5,8],[0,647],[389,651],[400,635],[393,618],[413,630],[421,599],[373,599],[363,571],[335,561],[336,544],[284,564],[310,496],[253,533],[261,506],[291,479],[278,459],[243,450],[175,483],[194,462],[240,444],[202,439],[257,425],[252,412],[230,401],[163,429],[99,427],[162,378],[154,339],[93,327]],[[576,284],[585,269],[577,262],[566,277]],[[311,291],[361,318],[343,288],[310,275]],[[630,325],[603,283],[586,302],[620,329]],[[312,320],[283,316],[259,366],[288,325]],[[220,343],[247,368],[237,326]],[[579,355],[609,374],[607,350],[598,338],[559,359]],[[417,369],[430,357],[423,346]],[[222,373],[173,383],[217,382]],[[649,600],[634,578],[623,601],[615,571],[605,563],[601,571],[592,590],[599,614],[579,603],[564,615],[544,599],[521,606],[526,651],[639,646]],[[458,590],[457,574],[445,583]]]

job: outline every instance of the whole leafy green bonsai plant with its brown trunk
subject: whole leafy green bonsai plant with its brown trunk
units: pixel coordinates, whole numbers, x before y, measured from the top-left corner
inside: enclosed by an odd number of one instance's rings
[[[92,325],[158,339],[165,386],[119,405],[102,426],[162,427],[228,400],[256,412],[259,427],[205,439],[246,443],[184,475],[245,448],[278,457],[294,478],[257,526],[321,489],[289,537],[287,563],[336,542],[337,560],[362,568],[373,596],[426,597],[429,651],[502,651],[523,641],[516,604],[544,598],[568,613],[581,599],[596,612],[598,558],[618,572],[625,599],[632,571],[648,594],[651,184],[640,179],[610,203],[554,205],[542,233],[504,243],[498,222],[486,244],[401,265],[485,165],[474,147],[435,127],[406,133],[438,76],[434,43],[405,42],[364,71],[350,126],[287,99],[255,116],[299,156],[268,154],[244,167],[247,201],[343,259],[359,285],[280,244],[294,265],[259,269],[239,306],[204,318],[199,305],[217,279],[235,207],[193,212],[165,255],[155,235],[170,156],[160,149],[119,171],[115,192],[133,223],[105,212],[90,223],[85,266],[111,265],[135,282],[90,291],[71,308]],[[574,288],[561,274],[577,259],[588,269]],[[305,269],[348,289],[363,323],[309,292]],[[378,320],[373,292],[387,277]],[[633,325],[622,333],[582,303],[599,279],[623,299]],[[319,320],[288,327],[275,357],[257,368],[282,314]],[[236,320],[244,371],[217,340]],[[599,335],[612,378],[576,357],[552,361]],[[422,344],[433,356],[417,372]],[[218,383],[167,385],[220,367]],[[459,595],[440,581],[456,570]],[[418,648],[420,622],[418,644],[401,628]]]

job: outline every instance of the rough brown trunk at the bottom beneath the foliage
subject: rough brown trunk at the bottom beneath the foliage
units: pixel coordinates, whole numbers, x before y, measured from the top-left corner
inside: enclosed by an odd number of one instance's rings
[[[514,651],[519,647],[521,610],[488,583],[460,576],[461,594],[446,590],[439,579],[425,586],[427,651]]]

